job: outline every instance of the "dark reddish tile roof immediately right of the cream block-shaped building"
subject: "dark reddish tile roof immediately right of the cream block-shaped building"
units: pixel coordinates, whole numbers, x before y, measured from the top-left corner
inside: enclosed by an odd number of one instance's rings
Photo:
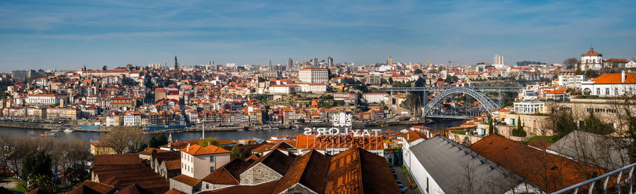
[[[242,159],[232,159],[228,164],[220,166],[218,169],[214,169],[211,174],[208,174],[201,181],[206,183],[223,184],[223,185],[238,185],[240,174],[247,169],[248,162]]]

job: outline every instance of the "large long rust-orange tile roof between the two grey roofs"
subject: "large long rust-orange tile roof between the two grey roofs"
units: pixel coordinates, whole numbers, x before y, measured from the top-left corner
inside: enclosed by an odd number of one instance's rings
[[[550,193],[587,181],[589,174],[607,172],[495,134],[478,140],[470,149]]]

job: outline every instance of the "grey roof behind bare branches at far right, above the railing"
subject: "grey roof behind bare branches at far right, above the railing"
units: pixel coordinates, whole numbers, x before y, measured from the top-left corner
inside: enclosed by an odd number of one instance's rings
[[[605,135],[572,131],[548,146],[548,150],[572,157],[572,159],[586,164],[616,170],[630,164],[628,150],[619,148],[620,145],[627,143]]]

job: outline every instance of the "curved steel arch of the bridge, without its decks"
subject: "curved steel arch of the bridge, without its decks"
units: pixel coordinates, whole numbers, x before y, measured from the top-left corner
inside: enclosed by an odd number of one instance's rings
[[[477,92],[476,90],[472,90],[466,87],[453,87],[448,90],[444,90],[444,92],[440,93],[439,95],[431,99],[430,102],[428,102],[424,106],[423,115],[428,115],[430,110],[433,107],[437,107],[437,105],[440,105],[446,97],[448,97],[449,95],[457,94],[457,93],[464,93],[466,95],[469,95],[477,99],[479,104],[481,104],[481,106],[483,106],[486,109],[486,111],[488,111],[488,114],[491,114],[492,111],[500,109],[499,105],[497,105],[495,102],[493,102],[492,99],[488,98],[486,95],[484,95],[481,92]]]

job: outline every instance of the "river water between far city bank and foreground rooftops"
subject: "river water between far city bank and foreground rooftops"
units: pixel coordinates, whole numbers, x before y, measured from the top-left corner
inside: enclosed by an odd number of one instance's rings
[[[424,126],[433,128],[435,130],[449,128],[452,126],[460,126],[464,121],[435,121],[433,123],[425,124]],[[411,127],[413,125],[396,125],[396,126],[385,126],[385,127],[365,127],[367,129],[380,129],[382,131],[393,130],[400,131],[404,128]],[[26,129],[26,128],[4,128],[0,127],[0,133],[8,134],[8,135],[25,135],[25,136],[40,136],[40,133],[43,133],[43,130],[37,129]],[[267,140],[275,135],[296,135],[298,133],[302,133],[303,129],[300,128],[298,130],[288,129],[288,130],[263,130],[263,131],[207,131],[205,133],[206,138],[217,138],[217,139],[228,139],[228,140],[240,140],[245,138],[259,138],[262,140]],[[100,133],[98,132],[73,132],[73,133],[64,133],[57,132],[60,134],[59,138],[65,140],[71,139],[86,139],[86,140],[98,140],[100,138]],[[172,139],[175,141],[182,140],[198,140],[201,138],[201,131],[199,132],[181,132],[181,133],[172,133]]]

